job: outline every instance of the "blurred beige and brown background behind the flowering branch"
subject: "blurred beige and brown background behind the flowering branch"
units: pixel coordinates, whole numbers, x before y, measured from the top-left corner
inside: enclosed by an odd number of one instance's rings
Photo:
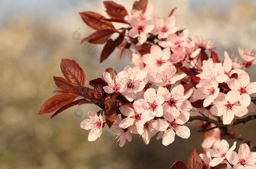
[[[119,60],[117,51],[99,64],[92,48],[80,45],[91,30],[78,12],[95,11],[106,16],[102,0],[0,0],[0,169],[155,169],[169,168],[177,160],[187,163],[191,151],[202,152],[199,121],[187,126],[189,139],[175,137],[163,146],[153,137],[148,145],[133,136],[123,148],[113,140],[111,131],[94,142],[80,122],[94,105],[74,106],[50,120],[50,114],[37,116],[42,103],[57,90],[53,76],[63,76],[62,58],[74,59],[84,69],[86,79],[100,77],[105,68],[121,71],[131,64]],[[130,11],[133,2],[115,0]],[[149,0],[153,15],[167,18],[175,10],[176,25],[188,28],[190,36],[214,40],[217,53],[225,50],[238,55],[237,47],[256,49],[255,0]],[[252,66],[248,73],[256,81]],[[249,128],[250,127],[250,128]],[[256,145],[255,121],[235,126],[237,134]],[[228,140],[232,143],[233,140]],[[239,142],[238,142],[239,144]],[[237,149],[236,149],[237,150]]]

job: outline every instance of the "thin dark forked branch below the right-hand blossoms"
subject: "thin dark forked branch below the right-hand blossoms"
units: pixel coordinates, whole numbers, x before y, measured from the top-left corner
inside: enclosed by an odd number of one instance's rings
[[[206,117],[206,116],[191,116],[189,119],[188,119],[188,122],[191,122],[191,121],[194,121],[194,120],[201,120],[201,121],[207,121],[207,122],[211,122],[213,124],[216,124],[216,126],[212,127],[212,128],[209,128],[209,129],[206,129],[206,130],[199,130],[198,132],[205,132],[205,131],[210,131],[212,129],[216,129],[216,128],[220,128],[220,127],[228,127],[228,126],[235,126],[235,125],[238,125],[240,123],[243,123],[243,124],[246,124],[246,122],[248,121],[251,121],[253,119],[256,119],[256,115],[251,115],[251,116],[247,116],[243,119],[236,119],[234,120],[232,123],[230,124],[223,124],[222,122],[220,121],[216,121],[214,119],[211,119],[209,117]]]

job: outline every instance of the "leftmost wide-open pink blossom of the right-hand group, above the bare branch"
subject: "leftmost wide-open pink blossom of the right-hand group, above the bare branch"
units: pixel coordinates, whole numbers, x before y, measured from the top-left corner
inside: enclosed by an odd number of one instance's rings
[[[207,107],[219,95],[218,84],[215,80],[204,81],[202,87],[194,91],[193,95],[196,99],[204,99],[203,106]]]

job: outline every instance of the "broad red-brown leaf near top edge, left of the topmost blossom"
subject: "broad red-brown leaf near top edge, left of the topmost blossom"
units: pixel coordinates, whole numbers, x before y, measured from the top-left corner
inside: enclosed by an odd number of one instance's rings
[[[123,19],[126,15],[128,15],[123,5],[119,5],[117,3],[114,3],[113,1],[105,1],[103,3],[105,8],[107,9],[107,14],[110,15],[111,18]]]

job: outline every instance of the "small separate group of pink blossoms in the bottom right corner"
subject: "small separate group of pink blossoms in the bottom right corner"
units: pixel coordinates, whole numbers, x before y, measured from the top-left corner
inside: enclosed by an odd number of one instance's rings
[[[212,149],[206,149],[206,154],[199,156],[209,169],[218,164],[227,164],[227,169],[255,169],[256,152],[251,152],[249,146],[244,143],[240,145],[238,153],[236,153],[235,146],[236,141],[229,148],[229,144],[223,139],[216,142]]]

